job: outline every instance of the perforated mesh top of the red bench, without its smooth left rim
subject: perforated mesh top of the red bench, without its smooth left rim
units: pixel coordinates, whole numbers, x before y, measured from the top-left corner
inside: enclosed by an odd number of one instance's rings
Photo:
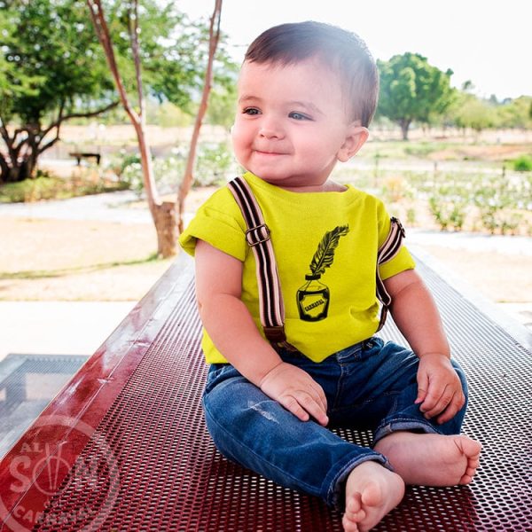
[[[408,489],[375,530],[531,530],[530,353],[431,270],[420,270],[468,375],[465,433],[483,444],[481,469],[469,487]],[[210,442],[192,286],[159,325],[34,529],[341,530],[340,515],[317,498],[231,464]],[[391,324],[385,335],[398,338]],[[368,434],[339,433],[369,444]]]

